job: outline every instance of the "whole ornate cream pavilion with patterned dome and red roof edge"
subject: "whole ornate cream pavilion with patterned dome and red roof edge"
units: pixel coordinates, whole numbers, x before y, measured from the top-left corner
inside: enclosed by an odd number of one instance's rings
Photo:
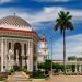
[[[23,19],[12,15],[0,20],[0,71],[17,66],[37,69],[38,35]]]

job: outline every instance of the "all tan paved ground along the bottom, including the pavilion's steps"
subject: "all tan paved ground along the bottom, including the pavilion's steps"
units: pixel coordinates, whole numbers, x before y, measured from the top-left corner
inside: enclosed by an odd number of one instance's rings
[[[7,82],[82,82],[82,75],[54,75],[50,79],[27,79],[23,72],[15,72]]]

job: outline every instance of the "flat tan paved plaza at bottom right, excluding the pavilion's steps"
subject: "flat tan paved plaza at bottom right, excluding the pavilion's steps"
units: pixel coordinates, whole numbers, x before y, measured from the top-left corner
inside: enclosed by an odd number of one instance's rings
[[[82,75],[54,75],[48,80],[36,80],[34,82],[82,82]]]

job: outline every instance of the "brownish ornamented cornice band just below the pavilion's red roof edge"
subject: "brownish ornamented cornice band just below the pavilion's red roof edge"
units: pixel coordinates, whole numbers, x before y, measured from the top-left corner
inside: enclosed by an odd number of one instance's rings
[[[35,33],[0,31],[0,36],[24,37],[24,38],[32,38],[35,42],[39,40],[38,36]]]

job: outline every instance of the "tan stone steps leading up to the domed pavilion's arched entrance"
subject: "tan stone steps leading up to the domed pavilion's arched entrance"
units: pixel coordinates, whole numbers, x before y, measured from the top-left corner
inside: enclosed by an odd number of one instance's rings
[[[14,72],[7,82],[32,82],[24,72]]]

